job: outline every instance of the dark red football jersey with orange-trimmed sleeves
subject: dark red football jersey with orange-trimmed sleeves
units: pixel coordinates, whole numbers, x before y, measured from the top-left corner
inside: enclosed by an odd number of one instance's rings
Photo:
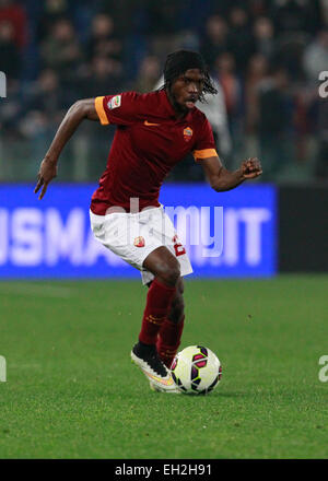
[[[139,198],[139,210],[159,207],[161,185],[175,164],[190,151],[196,161],[218,155],[207,117],[195,107],[177,119],[164,90],[96,97],[95,108],[102,125],[117,126],[92,196],[95,214],[114,206],[129,212],[130,198]]]

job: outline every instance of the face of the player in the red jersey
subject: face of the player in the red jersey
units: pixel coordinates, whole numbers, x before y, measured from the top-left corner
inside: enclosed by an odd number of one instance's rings
[[[195,107],[203,90],[204,75],[199,69],[189,69],[172,84],[169,96],[174,107],[187,112]]]

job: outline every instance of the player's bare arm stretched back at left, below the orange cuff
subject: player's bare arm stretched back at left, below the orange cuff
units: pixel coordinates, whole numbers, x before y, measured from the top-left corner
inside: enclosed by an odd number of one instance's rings
[[[84,119],[99,120],[94,98],[75,102],[63,117],[37,174],[34,192],[43,187],[39,199],[46,193],[48,184],[57,176],[57,163],[62,149]]]

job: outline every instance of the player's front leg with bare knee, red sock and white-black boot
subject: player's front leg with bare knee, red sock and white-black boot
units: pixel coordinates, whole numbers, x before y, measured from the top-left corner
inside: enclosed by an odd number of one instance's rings
[[[131,357],[150,379],[152,388],[178,392],[169,371],[159,357],[156,342],[161,326],[169,315],[176,296],[176,284],[180,277],[179,262],[163,246],[153,250],[143,266],[154,274],[154,280],[148,291],[139,342],[133,347]]]

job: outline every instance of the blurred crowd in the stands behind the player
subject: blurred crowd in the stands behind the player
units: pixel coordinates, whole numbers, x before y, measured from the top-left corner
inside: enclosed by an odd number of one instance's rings
[[[179,48],[200,51],[218,84],[201,108],[227,167],[258,155],[265,181],[328,181],[327,0],[0,0],[0,180],[35,178],[75,101],[154,90]],[[60,178],[96,180],[113,136],[84,122]],[[176,179],[202,169],[190,156]]]

